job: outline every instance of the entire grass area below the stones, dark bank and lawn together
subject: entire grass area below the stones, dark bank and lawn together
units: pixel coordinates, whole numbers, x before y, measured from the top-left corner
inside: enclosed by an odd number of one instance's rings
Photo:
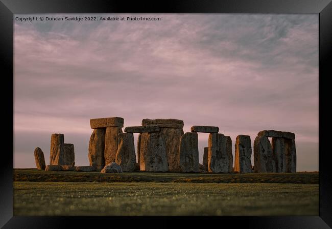
[[[100,174],[14,169],[13,179],[14,216],[319,215],[319,173]]]

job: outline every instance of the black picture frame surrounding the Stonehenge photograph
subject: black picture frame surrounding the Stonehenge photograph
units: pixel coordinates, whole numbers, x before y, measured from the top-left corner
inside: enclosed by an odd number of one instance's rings
[[[90,227],[123,225],[123,217],[13,217],[13,14],[15,13],[315,13],[319,14],[319,216],[296,217],[211,217],[217,225],[246,225],[252,228],[329,228],[332,227],[332,182],[326,142],[329,119],[327,79],[331,74],[332,3],[330,0],[168,0],[168,1],[102,1],[102,0],[0,0],[0,41],[2,66],[3,141],[1,152],[0,226],[3,228],[65,228],[69,224]],[[11,99],[11,100],[10,100]],[[14,132],[13,132],[14,134]],[[146,217],[135,217],[137,225],[147,225]],[[174,225],[169,217],[153,217],[164,227]],[[179,219],[171,217],[171,219]],[[185,218],[184,223],[208,226],[201,217]],[[150,219],[149,219],[150,220]],[[129,222],[129,221],[128,221]]]

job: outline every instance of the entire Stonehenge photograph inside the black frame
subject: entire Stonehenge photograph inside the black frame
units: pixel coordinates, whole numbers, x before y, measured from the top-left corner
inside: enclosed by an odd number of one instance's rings
[[[14,13],[13,216],[320,216],[319,18]]]

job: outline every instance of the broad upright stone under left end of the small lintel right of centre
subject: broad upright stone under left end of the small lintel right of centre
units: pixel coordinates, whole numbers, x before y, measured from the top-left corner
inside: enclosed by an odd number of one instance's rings
[[[181,136],[179,164],[183,173],[199,172],[197,133],[188,132]]]

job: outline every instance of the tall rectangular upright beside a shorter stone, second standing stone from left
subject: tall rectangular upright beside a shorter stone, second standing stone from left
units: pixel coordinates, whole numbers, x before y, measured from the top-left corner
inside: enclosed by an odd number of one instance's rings
[[[51,152],[50,152],[51,165],[64,164],[64,135],[52,134],[51,136]]]

